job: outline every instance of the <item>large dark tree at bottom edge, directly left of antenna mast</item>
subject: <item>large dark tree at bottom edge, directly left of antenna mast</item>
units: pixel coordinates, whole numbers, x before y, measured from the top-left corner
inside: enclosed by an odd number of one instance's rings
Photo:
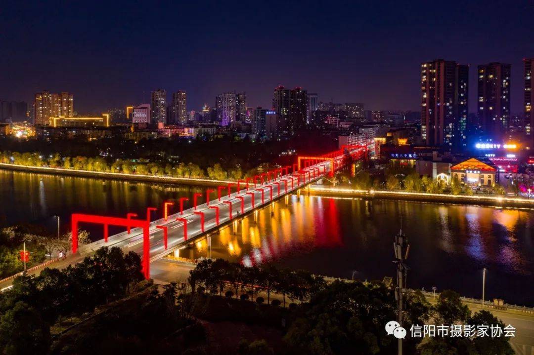
[[[357,349],[371,355],[395,349],[395,338],[383,330],[395,319],[395,298],[382,284],[335,281],[313,295],[307,309],[284,337],[294,353],[352,354]]]

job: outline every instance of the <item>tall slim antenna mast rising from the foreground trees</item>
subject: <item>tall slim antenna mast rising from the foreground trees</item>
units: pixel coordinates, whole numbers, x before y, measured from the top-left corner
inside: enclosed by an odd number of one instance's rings
[[[395,287],[395,300],[397,301],[397,322],[402,327],[403,318],[403,290],[406,286],[406,273],[409,267],[404,263],[408,259],[408,253],[410,252],[410,244],[408,244],[408,238],[402,232],[402,224],[399,233],[395,236],[395,242],[393,243],[393,249],[395,252],[394,263],[397,264],[397,285]],[[398,355],[402,355],[402,339],[398,339]]]

